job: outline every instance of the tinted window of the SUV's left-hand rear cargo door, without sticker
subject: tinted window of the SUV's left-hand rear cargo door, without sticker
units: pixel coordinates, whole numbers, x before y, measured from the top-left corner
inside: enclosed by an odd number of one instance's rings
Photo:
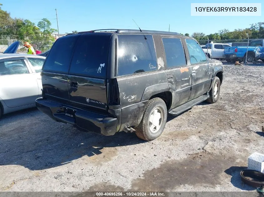
[[[59,38],[52,46],[43,70],[68,73],[75,43],[80,35]]]

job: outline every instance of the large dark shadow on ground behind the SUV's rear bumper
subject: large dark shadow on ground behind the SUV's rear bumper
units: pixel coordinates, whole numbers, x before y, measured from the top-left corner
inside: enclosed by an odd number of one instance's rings
[[[125,132],[113,136],[85,133],[32,109],[4,116],[0,121],[0,165],[42,170],[103,153],[97,158],[101,161],[115,156],[116,147],[145,142]]]

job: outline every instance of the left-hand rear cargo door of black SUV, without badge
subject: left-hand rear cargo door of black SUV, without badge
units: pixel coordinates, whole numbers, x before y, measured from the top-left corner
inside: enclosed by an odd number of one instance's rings
[[[59,38],[49,52],[41,74],[43,91],[49,100],[69,104],[68,71],[79,37],[77,34]]]

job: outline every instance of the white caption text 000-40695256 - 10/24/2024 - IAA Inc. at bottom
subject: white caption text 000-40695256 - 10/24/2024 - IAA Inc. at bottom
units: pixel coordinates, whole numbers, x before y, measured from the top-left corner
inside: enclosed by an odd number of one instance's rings
[[[97,196],[165,196],[162,192],[97,192]]]

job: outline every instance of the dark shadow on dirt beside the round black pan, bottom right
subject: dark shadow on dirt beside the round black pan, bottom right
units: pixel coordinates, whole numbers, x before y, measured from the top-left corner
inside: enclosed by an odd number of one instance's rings
[[[225,170],[225,173],[232,176],[231,184],[234,187],[237,187],[241,190],[246,190],[246,191],[256,190],[256,188],[246,185],[241,181],[240,172],[242,170],[247,170],[247,167],[232,166],[228,168],[227,170]]]

